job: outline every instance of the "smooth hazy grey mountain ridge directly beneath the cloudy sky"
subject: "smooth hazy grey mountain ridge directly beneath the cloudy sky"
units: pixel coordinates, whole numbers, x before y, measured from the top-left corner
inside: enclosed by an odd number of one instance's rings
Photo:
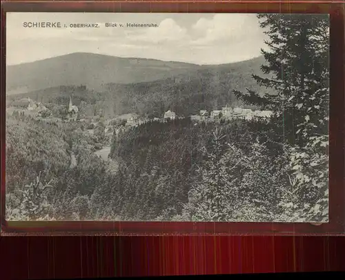
[[[104,54],[75,52],[16,66],[7,66],[7,94],[18,94],[54,88],[57,86],[84,85],[100,90],[108,83],[140,83],[164,80],[171,77],[197,76],[198,71],[214,72],[224,68],[253,68],[259,71],[262,57],[224,63],[197,65],[158,59],[122,58]],[[249,66],[246,66],[249,65]],[[244,69],[247,71],[248,69]],[[217,74],[217,73],[215,73]]]

